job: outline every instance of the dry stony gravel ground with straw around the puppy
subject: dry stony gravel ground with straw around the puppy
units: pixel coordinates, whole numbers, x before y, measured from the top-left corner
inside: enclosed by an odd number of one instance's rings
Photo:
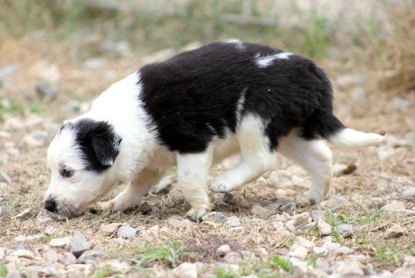
[[[58,220],[43,209],[43,196],[45,154],[59,124],[87,111],[112,82],[172,53],[67,63],[42,60],[45,45],[24,44],[0,47],[3,57],[15,49],[0,63],[0,276],[415,277],[414,90],[380,93],[373,72],[319,61],[334,83],[338,117],[389,136],[382,146],[333,148],[332,187],[315,206],[304,199],[308,176],[279,157],[240,190],[211,192],[214,212],[200,224],[183,217],[189,204],[174,168],[169,186],[138,208],[108,213],[96,204]],[[237,161],[214,166],[210,178]]]

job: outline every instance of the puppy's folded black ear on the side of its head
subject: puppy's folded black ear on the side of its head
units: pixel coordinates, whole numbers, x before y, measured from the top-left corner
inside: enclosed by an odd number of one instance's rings
[[[97,132],[91,134],[91,145],[97,160],[104,166],[111,166],[116,160],[118,146],[122,138],[115,132]]]

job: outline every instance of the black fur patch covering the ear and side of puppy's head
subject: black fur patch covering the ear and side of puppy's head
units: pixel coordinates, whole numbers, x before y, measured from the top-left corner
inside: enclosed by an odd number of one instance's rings
[[[101,173],[116,160],[121,138],[109,123],[81,118],[65,123],[61,127],[63,129],[70,129],[75,133],[75,142],[81,150],[81,158],[87,171]]]

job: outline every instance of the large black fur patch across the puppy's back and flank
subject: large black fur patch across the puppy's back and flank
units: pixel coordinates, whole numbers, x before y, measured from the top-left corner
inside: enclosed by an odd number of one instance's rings
[[[170,150],[197,153],[215,135],[223,137],[226,128],[235,132],[242,91],[242,118],[251,113],[264,119],[272,149],[292,128],[300,128],[304,138],[315,138],[343,127],[331,112],[331,84],[313,61],[290,55],[258,67],[258,56],[281,52],[219,42],[145,65],[139,70],[140,98],[159,141]]]

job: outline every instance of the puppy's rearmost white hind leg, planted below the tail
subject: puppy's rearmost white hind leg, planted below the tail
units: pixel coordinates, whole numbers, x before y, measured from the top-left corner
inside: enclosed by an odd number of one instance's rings
[[[331,150],[322,139],[304,139],[291,132],[279,141],[279,153],[303,167],[311,176],[306,196],[311,204],[322,201],[331,183]]]

